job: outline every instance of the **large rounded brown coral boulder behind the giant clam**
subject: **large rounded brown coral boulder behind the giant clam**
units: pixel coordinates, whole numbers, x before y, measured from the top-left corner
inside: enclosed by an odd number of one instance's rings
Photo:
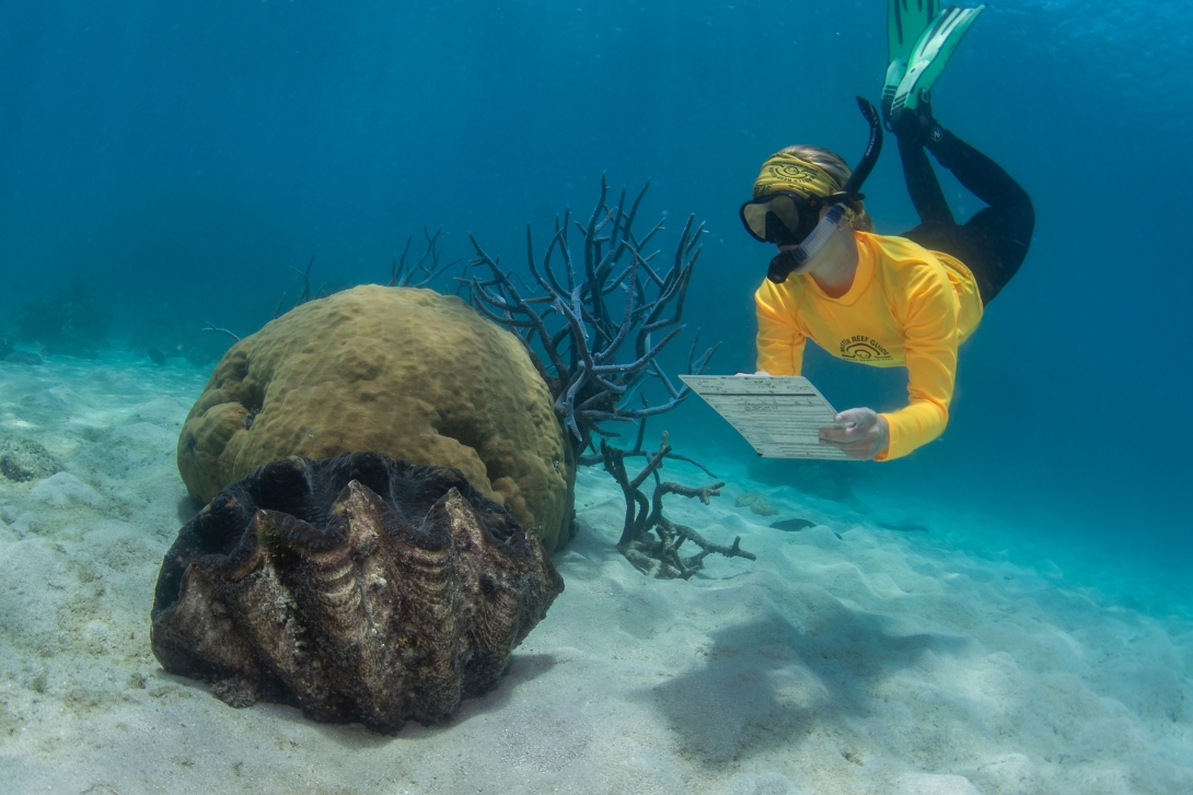
[[[289,455],[373,451],[459,470],[538,534],[568,539],[575,471],[521,341],[455,296],[367,285],[237,342],[178,440],[192,496]]]

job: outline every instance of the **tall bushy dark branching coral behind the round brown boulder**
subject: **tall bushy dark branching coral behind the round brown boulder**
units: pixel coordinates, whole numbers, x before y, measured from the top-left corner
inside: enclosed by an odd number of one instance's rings
[[[595,447],[593,434],[617,435],[601,423],[641,421],[669,411],[688,393],[687,386],[672,383],[657,356],[684,330],[684,302],[700,255],[704,224],[696,225],[694,217],[688,217],[669,267],[659,267],[659,253],[644,251],[663,222],[641,237],[633,230],[647,187],[630,203],[623,190],[611,206],[608,182],[601,178],[600,199],[588,223],[573,222],[570,211],[556,218],[542,261],[536,260],[527,225],[530,285],[503,271],[472,238],[472,265],[488,269],[488,278],[463,280],[471,288],[472,304],[526,343],[576,453]],[[573,256],[573,228],[581,237],[582,256]],[[717,349],[713,346],[697,355],[698,343],[699,334],[688,354],[690,373],[703,373]],[[654,406],[644,400],[642,406],[628,405],[626,398],[648,377],[662,384],[667,399]]]

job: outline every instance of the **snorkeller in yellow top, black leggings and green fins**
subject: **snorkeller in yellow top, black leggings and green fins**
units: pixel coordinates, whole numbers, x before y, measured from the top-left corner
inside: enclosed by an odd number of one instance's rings
[[[762,164],[746,230],[778,247],[755,293],[760,374],[798,375],[806,340],[832,355],[876,367],[904,366],[908,405],[842,411],[821,442],[851,458],[891,460],[944,433],[957,347],[1019,271],[1036,215],[1031,198],[997,163],[945,130],[931,91],[977,8],[890,0],[882,123],[866,100],[866,153],[853,170],[839,155],[797,145]],[[882,125],[898,139],[908,192],[921,223],[873,234],[861,186],[882,149]],[[988,206],[958,224],[926,151]]]

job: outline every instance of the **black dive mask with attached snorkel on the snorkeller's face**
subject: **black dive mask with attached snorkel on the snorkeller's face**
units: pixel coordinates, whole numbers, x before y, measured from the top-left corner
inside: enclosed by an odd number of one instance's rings
[[[783,284],[792,271],[811,259],[846,219],[842,205],[861,201],[861,184],[870,176],[883,149],[883,126],[870,100],[858,97],[858,110],[870,123],[870,141],[858,167],[840,191],[826,197],[803,198],[795,193],[771,193],[742,205],[738,215],[754,240],[778,246],[795,246],[771,260],[766,278]],[[821,218],[821,210],[829,211]]]

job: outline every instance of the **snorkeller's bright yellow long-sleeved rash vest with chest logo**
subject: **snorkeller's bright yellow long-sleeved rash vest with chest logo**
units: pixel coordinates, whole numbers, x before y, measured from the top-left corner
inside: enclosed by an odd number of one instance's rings
[[[947,254],[904,237],[854,237],[858,271],[840,298],[829,298],[811,277],[798,274],[758,288],[758,368],[799,375],[809,337],[837,359],[905,366],[908,406],[882,415],[890,445],[874,460],[884,461],[944,433],[957,346],[982,321],[982,298],[973,274]]]

